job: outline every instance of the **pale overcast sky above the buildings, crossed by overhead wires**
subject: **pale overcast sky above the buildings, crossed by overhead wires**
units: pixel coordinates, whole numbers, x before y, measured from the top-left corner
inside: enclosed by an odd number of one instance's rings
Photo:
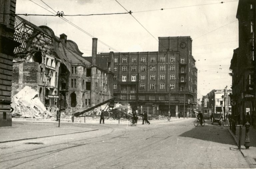
[[[132,16],[64,16],[67,22],[58,16],[21,16],[37,26],[50,27],[56,36],[66,34],[83,56],[92,54],[92,37],[98,38],[97,52],[142,52],[158,51],[158,37],[190,36],[199,99],[213,89],[232,85],[228,73],[238,47],[237,6],[238,0],[17,0],[16,14],[132,12]]]

